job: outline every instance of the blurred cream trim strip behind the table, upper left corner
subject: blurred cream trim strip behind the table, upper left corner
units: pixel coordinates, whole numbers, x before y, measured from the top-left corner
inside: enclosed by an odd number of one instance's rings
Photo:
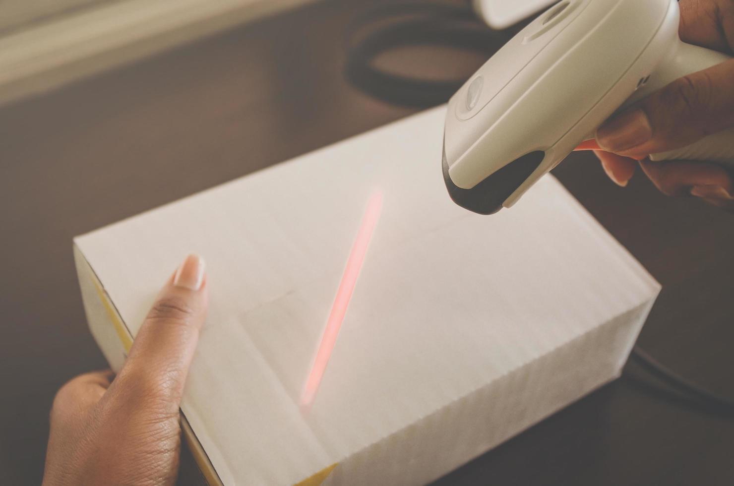
[[[126,0],[0,37],[0,104],[313,0]]]

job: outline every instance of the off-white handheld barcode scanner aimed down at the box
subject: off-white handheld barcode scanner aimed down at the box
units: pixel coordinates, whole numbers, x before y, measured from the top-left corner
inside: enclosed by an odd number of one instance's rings
[[[512,206],[614,112],[730,59],[683,43],[676,0],[563,0],[501,48],[448,101],[443,178],[459,206]],[[734,167],[734,129],[653,160]]]

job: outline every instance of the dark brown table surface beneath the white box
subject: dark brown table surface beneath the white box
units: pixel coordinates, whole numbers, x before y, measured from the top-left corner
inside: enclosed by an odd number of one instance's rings
[[[344,79],[344,29],[368,3],[313,4],[0,107],[0,484],[40,482],[55,391],[106,366],[73,236],[414,112]],[[463,76],[480,62],[431,54],[388,61]],[[590,153],[555,174],[662,283],[642,347],[734,396],[734,216],[639,174],[614,186]],[[630,363],[437,485],[730,485],[733,452],[732,418]],[[198,480],[184,454],[179,483]]]

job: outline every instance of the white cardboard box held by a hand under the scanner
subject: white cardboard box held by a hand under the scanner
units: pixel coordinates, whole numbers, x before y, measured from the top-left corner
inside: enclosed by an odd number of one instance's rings
[[[211,308],[181,410],[210,482],[423,484],[619,376],[660,286],[550,175],[493,216],[454,206],[444,113],[75,240],[87,318],[114,369],[183,256],[206,259]],[[375,189],[382,215],[305,413]]]

